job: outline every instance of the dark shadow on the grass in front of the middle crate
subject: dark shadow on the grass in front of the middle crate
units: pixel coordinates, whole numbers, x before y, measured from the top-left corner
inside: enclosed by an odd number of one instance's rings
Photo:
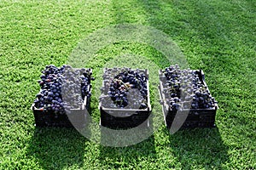
[[[100,160],[102,167],[108,165],[114,169],[131,168],[135,165],[140,168],[142,160],[156,160],[156,151],[154,147],[154,136],[143,142],[127,147],[107,147],[100,145]]]

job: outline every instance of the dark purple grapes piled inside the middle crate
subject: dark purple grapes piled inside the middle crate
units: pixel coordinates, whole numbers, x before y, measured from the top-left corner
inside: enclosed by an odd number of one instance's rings
[[[105,76],[108,71],[111,72],[113,70],[108,69],[105,72]],[[109,76],[108,78],[110,81],[105,84],[108,89],[108,95],[105,97],[110,97],[111,101],[102,98],[102,105],[111,108],[126,107],[128,109],[146,109],[148,107],[148,77],[143,71],[126,68],[118,75]]]

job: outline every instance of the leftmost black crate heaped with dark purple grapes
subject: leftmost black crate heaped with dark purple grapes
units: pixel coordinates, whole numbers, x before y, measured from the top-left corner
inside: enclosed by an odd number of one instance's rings
[[[47,65],[32,104],[37,127],[84,127],[90,107],[91,69]]]

